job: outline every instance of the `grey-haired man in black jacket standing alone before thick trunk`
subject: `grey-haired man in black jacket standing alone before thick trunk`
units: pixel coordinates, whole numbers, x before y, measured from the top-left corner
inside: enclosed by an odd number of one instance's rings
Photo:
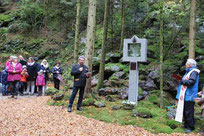
[[[84,65],[85,57],[80,56],[78,64],[74,64],[72,66],[71,75],[74,76],[74,86],[71,98],[69,100],[68,112],[72,111],[72,105],[74,102],[74,98],[79,91],[79,99],[77,104],[77,110],[81,111],[81,103],[84,95],[84,88],[86,86],[86,78],[90,77],[90,73],[88,73],[88,67]]]

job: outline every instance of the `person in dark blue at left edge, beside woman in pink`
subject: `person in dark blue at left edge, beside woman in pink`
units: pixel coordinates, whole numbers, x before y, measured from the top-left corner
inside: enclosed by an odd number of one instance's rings
[[[0,82],[2,83],[2,95],[3,96],[7,95],[7,89],[9,85],[9,82],[7,81],[8,72],[6,70],[7,69],[2,70],[0,74]]]

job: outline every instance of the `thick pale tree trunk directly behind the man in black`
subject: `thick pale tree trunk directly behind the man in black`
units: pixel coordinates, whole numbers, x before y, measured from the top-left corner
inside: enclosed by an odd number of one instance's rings
[[[88,23],[87,23],[87,42],[86,42],[86,51],[85,64],[88,66],[89,71],[92,71],[92,60],[94,52],[94,43],[95,43],[95,29],[96,29],[96,0],[89,0],[89,11],[88,11]],[[87,79],[86,82],[86,93],[91,92],[91,78]]]

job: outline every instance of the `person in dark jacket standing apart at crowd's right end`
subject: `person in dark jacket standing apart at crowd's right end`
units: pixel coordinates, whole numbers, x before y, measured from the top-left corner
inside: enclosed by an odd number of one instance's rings
[[[58,76],[60,74],[62,74],[62,68],[61,68],[59,62],[55,63],[55,66],[52,69],[52,74],[53,74],[53,80],[54,80],[54,87],[59,90],[60,89],[60,80],[59,80]]]

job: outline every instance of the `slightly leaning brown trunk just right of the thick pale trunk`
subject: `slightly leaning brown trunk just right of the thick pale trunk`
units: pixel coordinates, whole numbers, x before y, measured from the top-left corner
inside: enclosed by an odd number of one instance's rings
[[[100,69],[99,69],[99,79],[97,84],[97,89],[103,87],[104,81],[104,70],[105,70],[105,45],[107,44],[107,31],[108,31],[108,15],[109,15],[109,0],[105,1],[105,13],[103,20],[103,41],[102,41],[102,52],[101,52],[101,60],[100,60]]]

